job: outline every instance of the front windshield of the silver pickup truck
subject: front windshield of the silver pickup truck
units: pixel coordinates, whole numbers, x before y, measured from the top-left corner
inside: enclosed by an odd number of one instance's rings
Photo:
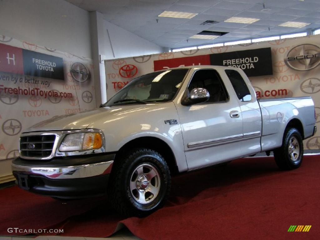
[[[189,69],[153,72],[133,79],[104,106],[154,103],[172,100]]]

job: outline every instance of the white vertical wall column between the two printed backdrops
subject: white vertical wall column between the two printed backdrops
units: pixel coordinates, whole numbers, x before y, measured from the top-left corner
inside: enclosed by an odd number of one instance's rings
[[[90,12],[90,35],[91,52],[94,64],[94,89],[96,106],[107,101],[107,84],[104,62],[100,63],[100,55],[105,53],[105,33],[103,14],[101,12]]]

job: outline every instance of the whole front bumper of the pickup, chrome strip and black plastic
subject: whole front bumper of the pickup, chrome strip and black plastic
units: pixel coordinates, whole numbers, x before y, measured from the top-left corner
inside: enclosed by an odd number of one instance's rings
[[[12,161],[12,172],[20,188],[36,194],[59,198],[101,196],[106,193],[114,157],[63,157],[48,162],[18,157]]]

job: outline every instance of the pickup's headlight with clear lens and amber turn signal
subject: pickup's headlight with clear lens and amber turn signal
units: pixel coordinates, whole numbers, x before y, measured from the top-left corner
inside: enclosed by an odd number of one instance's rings
[[[62,140],[60,152],[93,150],[102,147],[102,137],[98,132],[70,133]]]

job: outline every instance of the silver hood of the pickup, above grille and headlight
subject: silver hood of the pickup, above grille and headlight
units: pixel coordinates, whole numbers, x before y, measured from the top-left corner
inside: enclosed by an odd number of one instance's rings
[[[149,108],[147,105],[121,105],[104,108],[95,108],[92,110],[83,111],[80,113],[72,113],[62,116],[52,117],[38,124],[29,127],[23,132],[36,132],[36,131],[60,131],[60,130],[72,130],[72,129],[84,129],[97,120],[112,118],[119,113],[127,113],[128,111],[137,107]],[[148,106],[148,107],[147,107]]]

